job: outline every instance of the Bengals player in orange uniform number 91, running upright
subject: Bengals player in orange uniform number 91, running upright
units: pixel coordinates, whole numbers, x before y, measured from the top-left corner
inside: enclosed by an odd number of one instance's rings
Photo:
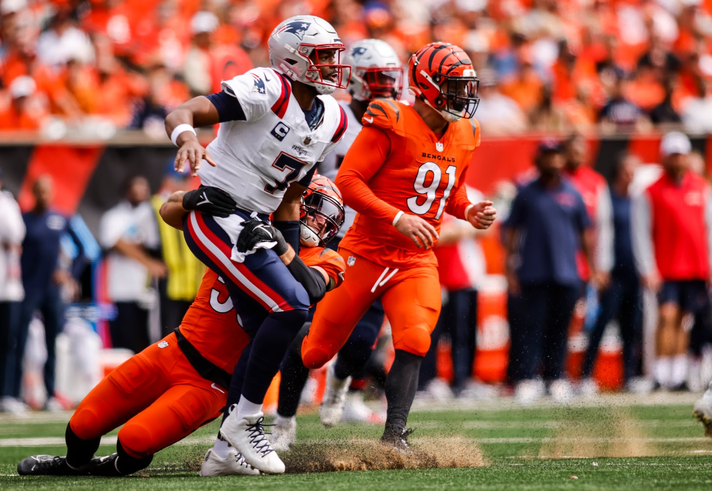
[[[381,440],[402,451],[408,451],[405,427],[420,363],[440,313],[432,249],[442,215],[478,229],[496,216],[492,202],[469,202],[464,187],[480,144],[473,118],[478,79],[466,53],[449,43],[423,46],[410,58],[408,81],[414,105],[372,102],[336,176],[345,204],[358,212],[339,247],[347,276],[320,301],[301,348],[305,366],[323,366],[381,299],[395,348]]]

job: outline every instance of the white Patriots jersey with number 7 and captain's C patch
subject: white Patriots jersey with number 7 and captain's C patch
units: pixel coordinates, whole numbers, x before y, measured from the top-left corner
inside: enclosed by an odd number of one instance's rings
[[[323,120],[310,129],[291,81],[272,68],[253,68],[223,81],[222,88],[239,100],[246,121],[221,123],[207,148],[217,166],[203,162],[198,175],[202,184],[229,192],[239,208],[269,214],[290,182],[335,148],[347,128],[346,115],[333,97],[318,95]]]

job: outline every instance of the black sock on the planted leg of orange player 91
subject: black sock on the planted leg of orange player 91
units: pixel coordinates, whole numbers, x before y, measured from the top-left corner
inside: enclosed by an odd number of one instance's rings
[[[386,432],[401,433],[405,429],[410,406],[418,388],[422,356],[397,349],[393,365],[386,378]]]

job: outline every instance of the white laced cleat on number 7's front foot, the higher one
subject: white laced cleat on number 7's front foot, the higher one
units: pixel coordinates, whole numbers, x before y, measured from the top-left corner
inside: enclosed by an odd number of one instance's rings
[[[264,414],[244,415],[237,418],[236,404],[223,421],[220,434],[245,458],[247,463],[265,474],[283,474],[284,462],[270,445],[262,425]]]

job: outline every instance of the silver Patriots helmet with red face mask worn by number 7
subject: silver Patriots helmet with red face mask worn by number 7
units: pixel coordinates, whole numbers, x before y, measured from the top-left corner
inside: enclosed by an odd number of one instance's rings
[[[314,86],[320,94],[348,86],[350,66],[341,63],[344,43],[324,19],[290,17],[274,28],[268,46],[272,68],[292,80]]]

